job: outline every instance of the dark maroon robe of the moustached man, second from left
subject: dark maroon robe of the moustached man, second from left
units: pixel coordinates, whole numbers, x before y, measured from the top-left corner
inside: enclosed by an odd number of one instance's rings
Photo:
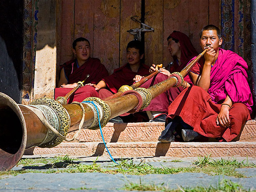
[[[117,93],[121,86],[132,85],[134,83],[133,79],[136,75],[147,76],[149,74],[149,69],[149,66],[140,64],[138,72],[133,72],[128,63],[118,69],[115,69],[112,75],[102,78],[102,80],[106,83],[108,90],[100,89],[99,97],[102,99],[106,98],[114,93]]]

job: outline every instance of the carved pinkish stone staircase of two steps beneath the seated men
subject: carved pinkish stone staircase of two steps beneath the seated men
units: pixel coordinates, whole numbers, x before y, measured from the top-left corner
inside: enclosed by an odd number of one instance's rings
[[[108,123],[102,132],[108,150],[114,157],[194,157],[211,154],[218,156],[256,157],[256,121],[250,120],[244,126],[237,142],[172,142],[160,143],[158,136],[164,130],[164,123]],[[75,132],[70,132],[72,138]],[[60,154],[71,156],[109,156],[100,130],[83,129],[73,142],[62,142],[54,148],[34,149],[34,154]]]

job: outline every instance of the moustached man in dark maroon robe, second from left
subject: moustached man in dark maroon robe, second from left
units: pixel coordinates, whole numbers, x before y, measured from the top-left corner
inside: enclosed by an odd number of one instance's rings
[[[142,43],[138,40],[130,41],[126,47],[128,63],[115,69],[112,75],[102,78],[98,84],[91,84],[99,92],[99,98],[104,99],[117,93],[123,85],[132,85],[136,75],[148,75],[150,67],[141,62],[143,57],[144,47]],[[122,122],[119,117],[115,119],[109,122]]]

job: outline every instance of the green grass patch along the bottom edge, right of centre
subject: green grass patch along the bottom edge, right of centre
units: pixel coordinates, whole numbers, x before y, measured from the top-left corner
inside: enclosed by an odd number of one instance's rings
[[[244,190],[243,187],[238,184],[234,183],[230,180],[223,179],[218,182],[216,186],[196,186],[196,187],[186,187],[182,188],[181,186],[178,186],[177,189],[170,189],[168,186],[164,186],[164,183],[162,184],[142,184],[141,180],[140,183],[132,183],[126,184],[122,189],[133,191],[162,191],[162,192],[256,192],[256,190]]]

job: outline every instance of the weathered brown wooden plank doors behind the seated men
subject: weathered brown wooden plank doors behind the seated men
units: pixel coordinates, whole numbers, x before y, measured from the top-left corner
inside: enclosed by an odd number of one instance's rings
[[[219,0],[145,0],[145,64],[167,64],[172,60],[167,37],[173,30],[187,34],[196,50],[203,26],[220,26]],[[73,57],[71,44],[84,36],[91,43],[91,56],[100,58],[110,72],[126,63],[126,45],[133,40],[127,30],[140,28],[132,16],[141,18],[141,0],[63,0],[59,27],[57,64]],[[199,9],[200,8],[200,9]]]

